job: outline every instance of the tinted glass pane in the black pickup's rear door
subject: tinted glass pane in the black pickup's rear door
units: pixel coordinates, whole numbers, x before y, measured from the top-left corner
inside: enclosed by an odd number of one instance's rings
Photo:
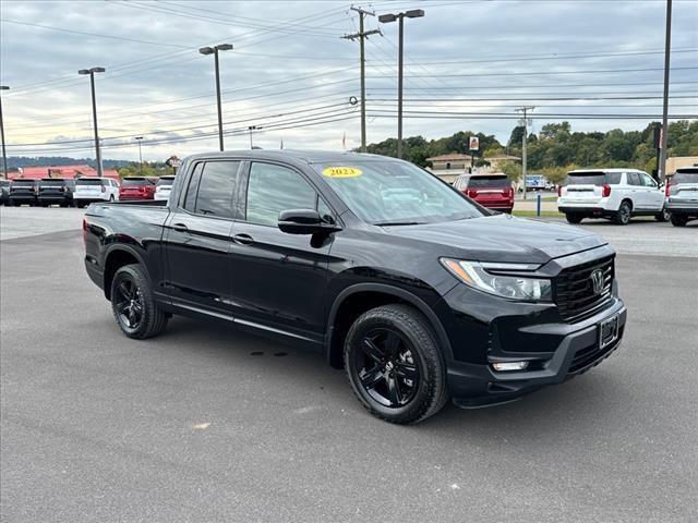
[[[232,218],[232,195],[238,181],[239,161],[208,161],[198,182],[194,212]]]

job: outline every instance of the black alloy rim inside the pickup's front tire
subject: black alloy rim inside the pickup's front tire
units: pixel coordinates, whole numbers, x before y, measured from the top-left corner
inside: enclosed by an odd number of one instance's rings
[[[366,393],[384,406],[408,404],[419,388],[420,373],[412,348],[400,333],[375,328],[361,340],[354,352],[354,366]]]

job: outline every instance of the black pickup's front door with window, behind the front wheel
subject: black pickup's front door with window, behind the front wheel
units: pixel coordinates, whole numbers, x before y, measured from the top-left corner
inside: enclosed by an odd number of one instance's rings
[[[333,211],[300,172],[262,161],[245,169],[239,200],[230,256],[236,321],[320,341],[333,236],[288,234],[277,221],[281,210],[318,209],[327,220]]]

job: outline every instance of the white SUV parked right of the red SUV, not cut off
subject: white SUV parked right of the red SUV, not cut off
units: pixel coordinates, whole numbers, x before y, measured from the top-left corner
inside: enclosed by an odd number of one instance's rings
[[[637,169],[571,171],[557,195],[557,210],[569,223],[579,223],[583,218],[609,218],[625,226],[633,216],[669,219],[663,192],[652,177]]]

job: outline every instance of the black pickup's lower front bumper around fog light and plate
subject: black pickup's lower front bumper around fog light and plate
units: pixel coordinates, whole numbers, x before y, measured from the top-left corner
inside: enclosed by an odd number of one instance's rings
[[[613,316],[618,317],[617,339],[601,348],[599,325]],[[552,352],[517,352],[506,356],[489,356],[486,364],[449,362],[448,387],[454,403],[461,408],[506,403],[582,374],[619,346],[626,319],[625,304],[615,297],[611,307],[579,324],[541,324],[521,329],[541,339],[558,339],[559,342]],[[532,369],[495,372],[492,368],[492,362],[504,361],[529,361]]]

